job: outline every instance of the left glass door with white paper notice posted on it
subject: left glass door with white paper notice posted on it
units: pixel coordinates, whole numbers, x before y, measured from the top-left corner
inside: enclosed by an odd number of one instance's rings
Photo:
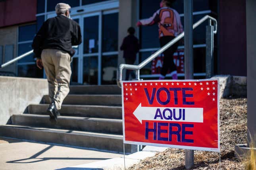
[[[100,85],[101,13],[83,15],[83,84]]]

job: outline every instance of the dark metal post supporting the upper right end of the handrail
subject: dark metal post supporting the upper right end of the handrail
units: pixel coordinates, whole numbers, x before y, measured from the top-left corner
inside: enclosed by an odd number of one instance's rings
[[[213,76],[214,27],[206,26],[206,78]]]

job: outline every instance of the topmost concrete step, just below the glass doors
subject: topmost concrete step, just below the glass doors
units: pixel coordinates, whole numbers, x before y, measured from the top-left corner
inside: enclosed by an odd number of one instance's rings
[[[121,94],[117,85],[71,85],[69,94]]]

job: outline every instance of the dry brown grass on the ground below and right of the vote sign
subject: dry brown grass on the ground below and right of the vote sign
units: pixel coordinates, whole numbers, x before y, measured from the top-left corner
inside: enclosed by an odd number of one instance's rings
[[[247,128],[247,99],[221,99],[220,100],[220,147],[221,169],[243,170],[245,166],[235,159],[234,147],[244,144]],[[129,170],[183,170],[185,169],[185,153],[183,149],[166,149],[154,157],[142,160]],[[208,151],[194,152],[193,170],[219,169],[219,153]]]

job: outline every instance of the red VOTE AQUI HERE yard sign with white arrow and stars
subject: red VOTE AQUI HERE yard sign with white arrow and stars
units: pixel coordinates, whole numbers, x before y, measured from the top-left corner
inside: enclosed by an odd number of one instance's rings
[[[123,81],[124,143],[219,151],[218,82]]]

